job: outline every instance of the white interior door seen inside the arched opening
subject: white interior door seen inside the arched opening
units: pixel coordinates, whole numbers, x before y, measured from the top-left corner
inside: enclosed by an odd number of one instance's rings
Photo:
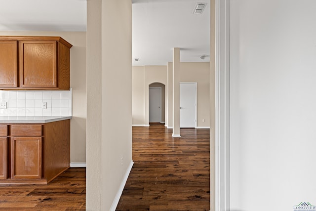
[[[149,87],[149,122],[161,122],[161,87]]]

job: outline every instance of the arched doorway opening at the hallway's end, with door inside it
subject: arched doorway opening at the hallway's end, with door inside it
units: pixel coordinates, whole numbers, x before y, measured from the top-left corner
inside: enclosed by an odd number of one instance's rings
[[[165,123],[164,84],[149,84],[149,123]]]

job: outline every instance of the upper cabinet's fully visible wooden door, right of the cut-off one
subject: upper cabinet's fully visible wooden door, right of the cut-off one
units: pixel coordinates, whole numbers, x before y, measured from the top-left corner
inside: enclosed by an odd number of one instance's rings
[[[57,43],[19,41],[21,87],[57,87]]]

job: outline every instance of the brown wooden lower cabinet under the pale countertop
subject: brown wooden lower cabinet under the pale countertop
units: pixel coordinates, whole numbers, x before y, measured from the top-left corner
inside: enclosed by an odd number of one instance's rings
[[[70,120],[0,124],[0,184],[47,184],[70,167]]]

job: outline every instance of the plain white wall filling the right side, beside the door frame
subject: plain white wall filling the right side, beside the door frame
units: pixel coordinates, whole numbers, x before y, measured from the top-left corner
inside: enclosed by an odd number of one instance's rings
[[[316,1],[231,1],[231,210],[316,205]]]

